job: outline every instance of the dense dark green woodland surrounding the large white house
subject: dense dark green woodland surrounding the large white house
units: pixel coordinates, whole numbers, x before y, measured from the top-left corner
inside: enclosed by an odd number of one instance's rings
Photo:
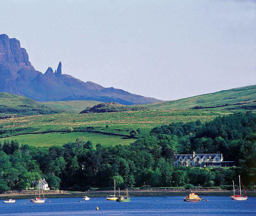
[[[221,186],[238,174],[256,185],[256,115],[248,112],[153,128],[130,145],[93,148],[77,140],[63,146],[33,147],[16,141],[0,143],[0,191],[29,188],[45,178],[52,189],[84,190],[117,186]],[[175,153],[223,153],[235,160],[230,169],[173,167]]]

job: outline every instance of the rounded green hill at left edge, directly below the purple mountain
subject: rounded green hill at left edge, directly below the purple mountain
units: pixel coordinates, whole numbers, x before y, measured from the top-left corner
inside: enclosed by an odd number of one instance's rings
[[[16,115],[42,115],[61,112],[62,111],[59,109],[38,104],[27,97],[0,92],[0,118],[8,118]]]

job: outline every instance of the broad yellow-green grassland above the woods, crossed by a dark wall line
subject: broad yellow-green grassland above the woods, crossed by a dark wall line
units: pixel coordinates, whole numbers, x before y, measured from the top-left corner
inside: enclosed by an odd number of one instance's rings
[[[128,144],[134,140],[123,139],[120,136],[93,133],[46,133],[29,134],[33,132],[92,130],[121,135],[129,135],[132,129],[140,128],[140,136],[147,134],[153,127],[171,122],[187,122],[201,120],[210,121],[219,115],[232,112],[218,110],[149,110],[110,113],[71,114],[61,113],[41,116],[27,116],[0,120],[4,133],[0,135],[2,141],[17,139],[21,143],[31,143],[35,146],[63,144],[84,137],[94,144]],[[105,126],[109,127],[106,128]],[[26,134],[28,133],[28,134]],[[22,135],[24,134],[24,135]],[[18,136],[13,136],[18,135]]]

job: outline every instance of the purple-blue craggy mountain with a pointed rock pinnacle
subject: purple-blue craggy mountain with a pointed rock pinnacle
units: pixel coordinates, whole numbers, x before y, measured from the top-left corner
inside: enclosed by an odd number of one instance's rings
[[[0,35],[0,92],[22,95],[36,101],[96,100],[120,104],[160,102],[155,98],[131,94],[122,89],[104,88],[62,74],[60,62],[55,73],[48,67],[45,74],[36,71],[20,42]]]

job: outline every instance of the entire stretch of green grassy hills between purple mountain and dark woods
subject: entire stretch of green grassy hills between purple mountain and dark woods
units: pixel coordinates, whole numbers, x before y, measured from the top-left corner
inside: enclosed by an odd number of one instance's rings
[[[100,105],[98,101],[35,102],[29,98],[2,93],[2,108],[13,113],[35,115],[0,119],[0,141],[17,139],[22,144],[34,146],[62,145],[77,138],[91,140],[94,145],[129,144],[131,130],[139,129],[141,137],[153,127],[174,122],[201,120],[207,122],[217,116],[245,112],[256,106],[256,86],[219,91],[159,104]],[[8,98],[8,100],[5,100]],[[86,107],[89,113],[78,114]],[[13,110],[11,109],[13,108]],[[137,107],[138,109],[130,109]],[[140,109],[143,108],[143,109]],[[53,110],[64,113],[53,114]],[[104,112],[101,110],[104,109]],[[106,110],[107,109],[107,110]],[[112,109],[112,112],[109,112]],[[18,110],[18,111],[17,111]],[[39,110],[39,111],[38,111]],[[114,112],[113,112],[114,110]],[[2,111],[3,113],[3,111]],[[36,113],[34,113],[36,114]],[[106,127],[107,126],[107,127]]]

